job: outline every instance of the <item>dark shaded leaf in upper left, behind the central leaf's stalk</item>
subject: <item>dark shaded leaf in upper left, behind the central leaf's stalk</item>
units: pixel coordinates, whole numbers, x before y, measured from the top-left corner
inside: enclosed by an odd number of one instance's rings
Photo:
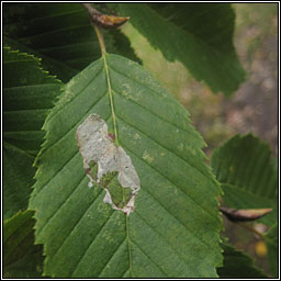
[[[64,82],[100,57],[98,38],[81,4],[9,3],[3,8],[4,35],[33,49]],[[111,53],[139,61],[120,31],[108,32],[104,40]]]

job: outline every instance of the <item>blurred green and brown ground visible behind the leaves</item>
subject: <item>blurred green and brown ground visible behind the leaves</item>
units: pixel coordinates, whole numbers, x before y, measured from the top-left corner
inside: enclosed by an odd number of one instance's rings
[[[210,156],[231,136],[252,132],[278,153],[278,4],[235,3],[234,44],[246,81],[232,98],[212,93],[204,83],[192,78],[181,63],[167,61],[130,23],[122,31],[131,37],[136,54],[160,83],[191,113],[195,128],[204,137]],[[168,38],[167,38],[168,40]],[[249,231],[224,220],[225,232],[237,248],[255,258],[269,274],[266,245]],[[265,233],[263,225],[252,227]]]

